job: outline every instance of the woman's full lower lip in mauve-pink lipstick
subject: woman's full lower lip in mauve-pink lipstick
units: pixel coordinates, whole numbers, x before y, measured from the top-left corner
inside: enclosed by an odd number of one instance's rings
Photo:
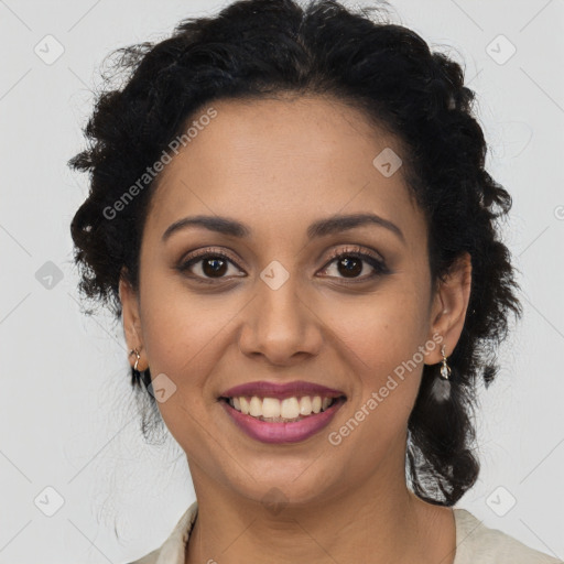
[[[300,421],[293,421],[291,423],[269,423],[267,421],[260,421],[259,419],[245,415],[240,411],[237,411],[224,400],[220,400],[220,403],[239,429],[250,437],[261,441],[262,443],[299,443],[326,427],[345,401],[344,398],[339,398],[328,410],[307,415]]]

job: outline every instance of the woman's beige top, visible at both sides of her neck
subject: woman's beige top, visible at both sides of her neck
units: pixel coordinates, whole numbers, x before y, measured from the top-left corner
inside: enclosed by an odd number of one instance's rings
[[[194,501],[159,549],[130,564],[184,564],[185,545],[197,510],[197,501]],[[456,522],[454,564],[564,564],[564,561],[534,551],[498,529],[485,527],[466,509],[455,507],[453,511]]]

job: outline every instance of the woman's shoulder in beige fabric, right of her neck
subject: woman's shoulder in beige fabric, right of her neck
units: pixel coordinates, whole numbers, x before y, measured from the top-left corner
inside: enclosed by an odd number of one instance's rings
[[[513,536],[486,527],[473,513],[453,508],[456,522],[454,564],[563,564]]]

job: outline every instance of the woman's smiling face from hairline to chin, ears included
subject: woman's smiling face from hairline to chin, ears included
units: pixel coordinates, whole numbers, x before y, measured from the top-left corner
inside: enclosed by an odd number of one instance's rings
[[[432,294],[426,226],[397,141],[355,109],[317,97],[221,100],[214,109],[161,174],[139,295],[120,288],[128,344],[142,347],[140,367],[151,368],[196,491],[207,481],[261,500],[278,488],[306,502],[403,477],[423,364],[441,360],[437,332],[451,354],[466,303],[456,301],[464,292],[452,294],[452,307]],[[311,228],[360,214],[381,219]],[[237,221],[246,235],[189,225],[164,236],[195,216]],[[220,399],[249,382],[299,380],[346,397],[330,421],[308,415],[318,423],[305,435],[303,423],[284,432],[234,414]],[[286,415],[317,392],[290,394],[297,401],[285,403]],[[282,405],[273,392],[262,395],[269,409]],[[247,431],[237,423],[245,417]]]

